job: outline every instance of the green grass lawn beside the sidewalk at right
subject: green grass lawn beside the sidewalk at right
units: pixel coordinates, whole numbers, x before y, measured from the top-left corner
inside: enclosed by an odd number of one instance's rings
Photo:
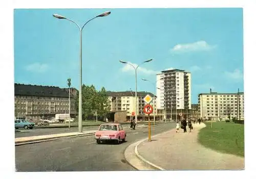
[[[244,157],[244,125],[233,122],[205,122],[198,140],[205,147]]]

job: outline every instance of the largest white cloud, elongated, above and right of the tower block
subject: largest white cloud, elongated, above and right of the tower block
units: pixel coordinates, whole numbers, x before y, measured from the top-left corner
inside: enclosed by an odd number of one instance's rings
[[[186,52],[195,52],[195,51],[207,51],[215,48],[216,45],[209,45],[206,41],[197,41],[194,43],[184,43],[184,44],[177,44],[170,52],[174,53],[186,53]]]

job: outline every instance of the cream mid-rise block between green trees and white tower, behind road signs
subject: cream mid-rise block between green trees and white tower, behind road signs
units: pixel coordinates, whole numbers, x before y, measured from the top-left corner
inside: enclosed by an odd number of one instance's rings
[[[121,92],[113,92],[113,91],[107,91],[107,95],[109,96],[110,101],[110,109],[111,111],[126,111],[126,118],[130,119],[132,118],[132,113],[136,112],[136,98],[135,98],[135,92],[134,91],[121,91]],[[154,97],[154,94],[149,92],[137,92],[137,116],[138,119],[144,118],[143,108],[146,105],[143,98],[150,94],[152,97]],[[151,105],[154,106],[154,111],[151,114],[151,116],[157,115],[157,108],[156,108],[156,99],[155,96],[154,105],[153,101],[151,102]]]

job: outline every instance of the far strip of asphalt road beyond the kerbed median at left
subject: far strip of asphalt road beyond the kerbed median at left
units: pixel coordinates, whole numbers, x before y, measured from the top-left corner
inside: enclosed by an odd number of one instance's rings
[[[140,125],[140,124],[139,124]],[[123,127],[129,126],[127,124],[122,124]],[[83,131],[94,131],[98,130],[98,126],[83,126]],[[15,138],[17,137],[29,137],[29,136],[41,136],[50,134],[60,134],[60,133],[72,133],[78,132],[78,127],[67,128],[38,128],[32,130],[19,129],[19,133],[15,133]]]

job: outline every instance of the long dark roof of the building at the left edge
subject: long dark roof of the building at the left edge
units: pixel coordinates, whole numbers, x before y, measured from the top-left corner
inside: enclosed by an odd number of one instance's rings
[[[70,97],[74,97],[77,91],[75,88],[70,88]],[[59,88],[55,86],[39,86],[39,85],[25,85],[14,84],[14,95],[26,96],[49,96],[49,97],[69,97],[68,88]]]

